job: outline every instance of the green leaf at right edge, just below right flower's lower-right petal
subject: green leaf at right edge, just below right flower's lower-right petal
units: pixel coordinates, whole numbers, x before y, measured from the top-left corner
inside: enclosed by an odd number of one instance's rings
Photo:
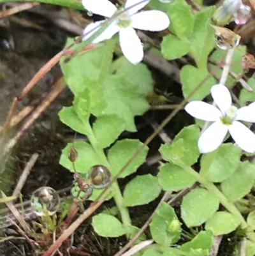
[[[221,183],[222,193],[230,202],[242,199],[251,191],[255,180],[255,165],[248,161],[241,162],[234,174]]]

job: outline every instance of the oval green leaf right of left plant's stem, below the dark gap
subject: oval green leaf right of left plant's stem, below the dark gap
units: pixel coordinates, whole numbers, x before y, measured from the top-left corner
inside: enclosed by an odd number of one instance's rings
[[[141,206],[148,204],[159,196],[161,187],[157,177],[151,174],[136,176],[124,189],[124,206]]]

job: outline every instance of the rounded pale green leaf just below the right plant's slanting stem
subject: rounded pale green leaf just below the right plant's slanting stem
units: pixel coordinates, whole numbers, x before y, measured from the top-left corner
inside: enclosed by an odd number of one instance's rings
[[[199,226],[214,215],[218,207],[217,195],[204,188],[196,188],[184,196],[182,200],[182,219],[187,227]]]

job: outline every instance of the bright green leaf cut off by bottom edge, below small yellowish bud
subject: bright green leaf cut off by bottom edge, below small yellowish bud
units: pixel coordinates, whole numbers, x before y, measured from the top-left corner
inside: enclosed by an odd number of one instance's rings
[[[180,246],[180,250],[189,256],[207,256],[213,243],[214,236],[210,230],[200,231],[190,242]]]

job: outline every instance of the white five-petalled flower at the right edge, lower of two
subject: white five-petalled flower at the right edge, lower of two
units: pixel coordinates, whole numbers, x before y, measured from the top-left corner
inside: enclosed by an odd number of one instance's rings
[[[217,107],[205,102],[194,101],[186,105],[185,110],[193,117],[214,121],[198,140],[198,148],[201,153],[214,151],[221,145],[226,134],[230,132],[231,137],[237,145],[249,153],[255,152],[255,135],[240,121],[255,123],[255,104],[237,109],[231,105],[231,94],[226,86],[216,84],[211,89],[212,98]]]

